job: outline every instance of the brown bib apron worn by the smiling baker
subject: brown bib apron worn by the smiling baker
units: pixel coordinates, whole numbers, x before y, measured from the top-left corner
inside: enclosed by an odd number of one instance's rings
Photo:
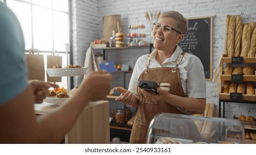
[[[141,73],[139,80],[155,81],[162,89],[167,89],[170,94],[185,97],[180,80],[180,70],[177,68],[184,54],[182,52],[179,56],[175,68],[162,67],[149,69],[150,57],[148,56],[146,69]],[[146,143],[147,129],[152,118],[157,113],[186,114],[166,102],[153,103],[150,99],[145,99],[139,87],[137,87],[137,92],[139,95],[139,105],[137,106],[137,116],[132,127],[130,143]]]

